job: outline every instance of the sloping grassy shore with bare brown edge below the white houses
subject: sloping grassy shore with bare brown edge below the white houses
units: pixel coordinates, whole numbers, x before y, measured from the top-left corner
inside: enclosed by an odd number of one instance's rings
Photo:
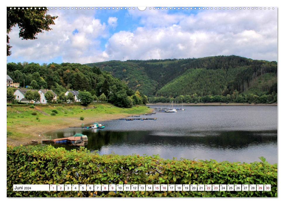
[[[81,105],[7,107],[7,144],[24,145],[33,139],[39,139],[38,135],[47,131],[145,112],[151,112],[151,109],[146,106],[118,108],[112,104],[90,104],[87,107]],[[84,117],[84,120],[80,117]]]

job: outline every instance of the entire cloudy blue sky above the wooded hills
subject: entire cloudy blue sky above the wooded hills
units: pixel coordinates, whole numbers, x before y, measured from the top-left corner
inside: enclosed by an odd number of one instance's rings
[[[22,40],[14,27],[7,62],[85,64],[216,55],[278,61],[277,7],[48,8],[48,14],[58,16],[52,30]]]

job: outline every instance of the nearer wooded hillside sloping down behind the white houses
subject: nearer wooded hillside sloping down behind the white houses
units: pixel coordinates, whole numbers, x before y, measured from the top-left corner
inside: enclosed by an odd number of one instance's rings
[[[82,64],[8,63],[7,74],[15,81],[32,89],[52,89],[57,95],[68,89],[87,91],[96,99],[105,95],[119,107],[146,104],[147,96],[128,88],[121,80],[96,66]]]

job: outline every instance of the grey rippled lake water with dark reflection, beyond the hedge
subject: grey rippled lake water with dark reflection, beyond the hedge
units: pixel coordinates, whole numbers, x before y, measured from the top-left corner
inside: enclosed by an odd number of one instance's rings
[[[86,148],[99,154],[159,154],[165,159],[248,163],[264,156],[269,163],[277,163],[277,106],[184,108],[176,113],[143,116],[156,117],[156,121],[100,121],[105,129],[66,128],[46,135],[61,138],[82,133],[88,136]]]

